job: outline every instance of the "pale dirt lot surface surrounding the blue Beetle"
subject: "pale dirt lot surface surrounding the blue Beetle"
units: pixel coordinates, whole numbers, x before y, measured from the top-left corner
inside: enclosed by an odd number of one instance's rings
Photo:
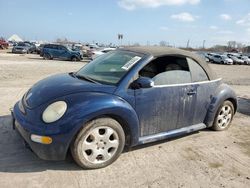
[[[243,65],[211,65],[239,97],[239,109],[228,131],[203,130],[136,147],[98,170],[80,169],[70,155],[59,162],[38,159],[12,130],[9,108],[38,80],[83,65],[0,53],[1,188],[250,187],[250,66]]]

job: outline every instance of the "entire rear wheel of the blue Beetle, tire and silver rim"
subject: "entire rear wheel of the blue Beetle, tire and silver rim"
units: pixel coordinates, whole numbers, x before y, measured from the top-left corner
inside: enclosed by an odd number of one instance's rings
[[[216,116],[214,118],[213,126],[211,127],[215,131],[227,130],[234,117],[234,105],[230,101],[224,101],[219,107]]]

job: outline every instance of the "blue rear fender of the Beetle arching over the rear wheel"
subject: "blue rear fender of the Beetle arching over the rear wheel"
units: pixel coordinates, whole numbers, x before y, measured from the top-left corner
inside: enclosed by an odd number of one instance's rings
[[[234,107],[235,112],[237,110],[237,96],[233,89],[227,84],[221,84],[217,87],[213,97],[211,98],[210,105],[208,107],[208,112],[205,118],[205,124],[211,127],[214,122],[216,112],[225,100],[230,100]]]

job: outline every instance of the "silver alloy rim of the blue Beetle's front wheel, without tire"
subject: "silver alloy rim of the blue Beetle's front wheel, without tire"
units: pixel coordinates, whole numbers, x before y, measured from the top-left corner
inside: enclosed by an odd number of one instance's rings
[[[111,159],[119,146],[117,132],[110,127],[97,127],[83,139],[82,152],[86,160],[93,164]]]

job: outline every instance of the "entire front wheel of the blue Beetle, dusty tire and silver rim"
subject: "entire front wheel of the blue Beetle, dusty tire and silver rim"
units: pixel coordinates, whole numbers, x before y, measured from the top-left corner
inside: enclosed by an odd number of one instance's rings
[[[79,166],[97,169],[113,163],[124,145],[125,134],[121,125],[111,118],[99,118],[84,126],[70,149]]]

